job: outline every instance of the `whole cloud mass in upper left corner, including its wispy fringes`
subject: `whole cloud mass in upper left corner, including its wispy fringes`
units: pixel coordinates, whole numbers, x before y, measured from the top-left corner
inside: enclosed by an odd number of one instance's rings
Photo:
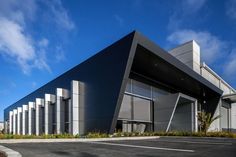
[[[28,20],[34,20],[35,1],[9,0],[0,6],[0,54],[18,64],[24,74],[33,68],[50,71],[45,55],[41,54],[48,40],[44,38],[37,44],[26,31]]]

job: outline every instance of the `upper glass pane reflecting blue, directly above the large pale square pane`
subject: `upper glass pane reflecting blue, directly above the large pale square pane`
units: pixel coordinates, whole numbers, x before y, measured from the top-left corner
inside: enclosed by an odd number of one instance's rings
[[[151,86],[132,80],[132,92],[137,95],[151,98]]]

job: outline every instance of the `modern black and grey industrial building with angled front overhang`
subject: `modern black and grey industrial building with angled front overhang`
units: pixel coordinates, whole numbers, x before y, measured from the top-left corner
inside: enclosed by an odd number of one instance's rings
[[[197,112],[236,129],[236,91],[200,61],[200,46],[167,52],[134,31],[4,110],[13,134],[198,131]]]

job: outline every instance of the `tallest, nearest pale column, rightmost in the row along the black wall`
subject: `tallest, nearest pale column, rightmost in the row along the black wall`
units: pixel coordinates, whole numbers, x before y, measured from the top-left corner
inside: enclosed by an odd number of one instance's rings
[[[71,132],[73,135],[83,134],[84,128],[84,84],[71,81]]]

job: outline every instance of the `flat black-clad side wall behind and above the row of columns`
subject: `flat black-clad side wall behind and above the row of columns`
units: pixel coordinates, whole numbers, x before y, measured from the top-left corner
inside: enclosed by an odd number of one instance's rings
[[[4,111],[5,120],[13,108],[55,94],[56,88],[70,89],[72,80],[85,84],[85,130],[109,131],[134,33],[105,48]],[[109,128],[109,129],[107,129]]]

